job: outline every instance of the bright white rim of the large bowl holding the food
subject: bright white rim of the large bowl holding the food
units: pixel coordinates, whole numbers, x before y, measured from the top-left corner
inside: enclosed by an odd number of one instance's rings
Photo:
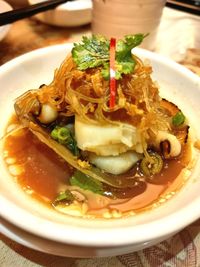
[[[23,65],[27,61],[31,61],[32,58],[40,58],[46,54],[59,50],[64,51],[65,49],[67,50],[71,47],[71,43],[65,43],[28,52],[2,65],[0,67],[0,75],[4,75],[4,73],[6,74],[6,72],[9,72],[19,64]],[[170,67],[185,75],[192,82],[199,84],[200,90],[199,77],[184,66],[179,65],[165,56],[141,48],[136,48],[134,51],[139,51],[145,57],[150,59],[153,58],[155,61],[164,62],[164,64],[170,65]],[[145,243],[155,238],[158,239],[163,236],[169,236],[170,234],[176,233],[200,217],[200,212],[199,214],[197,212],[200,205],[199,197],[192,202],[189,202],[180,210],[172,212],[163,218],[149,222],[148,224],[143,223],[140,225],[130,225],[125,228],[98,228],[97,230],[95,228],[85,226],[79,227],[58,222],[53,223],[46,219],[36,217],[23,208],[18,207],[15,203],[12,203],[2,195],[0,195],[0,203],[0,216],[12,224],[14,223],[14,225],[23,230],[61,243],[70,243],[82,246],[87,245],[93,247],[113,247],[131,245],[134,243]],[[17,220],[13,218],[13,210],[15,210],[18,215]],[[185,218],[185,220],[183,220],[183,218]],[[33,227],[33,225],[40,225],[40,227]],[[165,225],[170,227],[162,227]]]

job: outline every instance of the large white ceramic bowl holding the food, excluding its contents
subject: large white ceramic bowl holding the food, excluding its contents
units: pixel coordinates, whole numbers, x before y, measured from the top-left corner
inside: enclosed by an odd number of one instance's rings
[[[13,112],[15,97],[50,82],[54,69],[71,47],[65,44],[36,50],[0,68],[0,135]],[[150,60],[161,95],[184,111],[200,139],[199,78],[155,53],[142,49],[135,49],[135,53]],[[114,220],[74,218],[46,208],[27,196],[9,176],[2,155],[0,173],[0,216],[11,223],[10,228],[5,223],[2,232],[27,246],[57,255],[91,257],[128,253],[158,243],[200,217],[198,153],[189,181],[171,200],[137,216]],[[46,249],[45,244],[49,244]]]

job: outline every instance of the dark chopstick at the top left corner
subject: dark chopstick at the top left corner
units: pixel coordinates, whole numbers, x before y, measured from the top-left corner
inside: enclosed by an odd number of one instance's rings
[[[31,17],[37,13],[53,9],[60,4],[73,0],[50,0],[42,3],[34,4],[28,7],[15,9],[0,14],[0,26],[15,22],[20,19]]]

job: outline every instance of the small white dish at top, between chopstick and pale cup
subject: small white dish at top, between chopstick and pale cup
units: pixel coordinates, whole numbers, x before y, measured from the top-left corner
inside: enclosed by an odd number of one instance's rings
[[[44,0],[29,0],[31,5],[39,2],[44,2]],[[44,23],[54,26],[77,27],[90,23],[91,13],[92,0],[74,0],[59,5],[54,10],[39,13],[35,17]]]

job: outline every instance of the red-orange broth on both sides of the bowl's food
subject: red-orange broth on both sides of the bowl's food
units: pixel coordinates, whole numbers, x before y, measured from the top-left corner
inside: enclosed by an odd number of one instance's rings
[[[13,117],[9,124],[16,122],[16,117]],[[41,143],[28,129],[8,136],[4,151],[7,164],[9,160],[6,159],[14,159],[14,165],[22,167],[23,171],[16,175],[19,185],[29,194],[31,192],[34,198],[53,207],[52,203],[61,188],[68,184],[74,172],[73,167]],[[143,179],[131,191],[131,197],[130,192],[125,192],[127,198],[123,199],[111,199],[87,192],[87,199],[84,201],[87,205],[85,215],[102,217],[105,213],[117,211],[120,217],[122,214],[139,212],[149,209],[153,204],[164,202],[166,192],[170,192],[167,195],[167,198],[170,198],[183,185],[185,179],[179,174],[188,165],[189,160],[190,146],[185,145],[179,158],[164,161],[163,170],[155,179],[156,183],[146,182]],[[139,175],[137,166],[133,172]]]

